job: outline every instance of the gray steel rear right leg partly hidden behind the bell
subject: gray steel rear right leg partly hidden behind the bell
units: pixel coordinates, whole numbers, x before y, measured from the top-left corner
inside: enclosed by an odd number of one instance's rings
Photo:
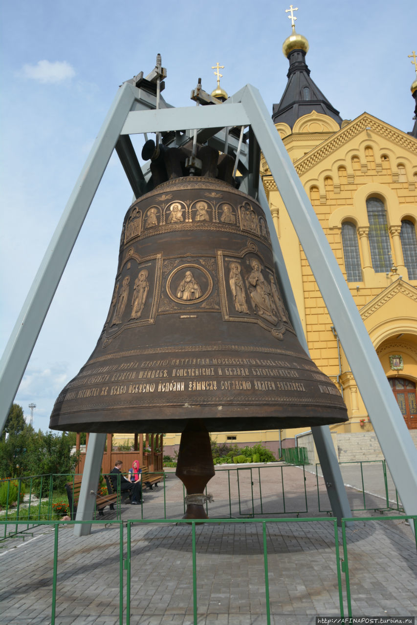
[[[279,244],[277,232],[275,231],[272,214],[269,210],[267,198],[265,196],[264,185],[259,181],[259,202],[264,209],[270,232],[270,241],[272,244],[272,253],[274,254],[275,272],[278,276],[279,287],[284,297],[284,303],[289,314],[292,327],[296,331],[297,338],[303,349],[309,354],[306,336],[302,329],[302,323],[297,309],[296,299],[292,292],[291,282],[288,276],[287,267],[282,256],[281,246]],[[324,483],[326,484],[327,496],[331,504],[333,516],[337,518],[337,524],[342,524],[342,518],[352,516],[351,507],[349,506],[348,495],[343,484],[343,478],[337,461],[336,452],[332,442],[332,436],[329,426],[319,426],[311,428],[314,444],[316,445],[317,455],[319,456],[320,466],[323,472]]]

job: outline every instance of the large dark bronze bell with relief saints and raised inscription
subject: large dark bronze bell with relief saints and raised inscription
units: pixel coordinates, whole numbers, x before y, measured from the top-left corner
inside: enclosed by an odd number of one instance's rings
[[[265,214],[235,188],[230,157],[200,148],[201,175],[187,176],[187,149],[153,148],[143,154],[155,187],[123,222],[103,331],[50,427],[182,432],[188,423],[193,432],[198,419],[226,432],[346,421],[341,394],[289,322]]]

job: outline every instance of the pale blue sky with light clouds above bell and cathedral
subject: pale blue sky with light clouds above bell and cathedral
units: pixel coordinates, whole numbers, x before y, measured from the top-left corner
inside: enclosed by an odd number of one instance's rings
[[[364,111],[408,132],[408,54],[417,49],[414,0],[301,0],[296,29],[311,77],[342,119]],[[118,86],[155,66],[163,97],[189,106],[202,78],[229,95],[247,83],[279,102],[291,21],[282,0],[3,0],[1,9],[0,352]],[[140,140],[139,140],[140,144]],[[46,431],[54,400],[95,347],[113,291],[121,224],[132,192],[113,154],[49,309],[16,400]]]

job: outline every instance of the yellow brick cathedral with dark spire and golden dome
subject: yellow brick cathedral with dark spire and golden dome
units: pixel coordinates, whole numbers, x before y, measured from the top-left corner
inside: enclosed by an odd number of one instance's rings
[[[311,79],[308,48],[293,21],[282,48],[289,60],[287,86],[273,106],[272,120],[417,444],[417,121],[406,133],[369,113],[342,120]],[[411,56],[415,66],[415,53]],[[417,80],[411,92],[417,103]],[[310,355],[348,407],[349,421],[330,426],[339,460],[382,457],[356,380],[264,159],[260,173]],[[119,437],[126,435],[115,434],[115,444]],[[311,461],[317,460],[311,433],[301,429],[212,432],[212,437],[240,446],[262,442],[277,457],[281,447],[306,446]],[[179,442],[180,434],[165,434],[165,453],[178,449]]]

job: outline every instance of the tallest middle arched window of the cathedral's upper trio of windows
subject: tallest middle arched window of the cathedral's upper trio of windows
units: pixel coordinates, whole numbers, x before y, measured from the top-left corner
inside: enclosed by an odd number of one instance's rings
[[[374,272],[388,272],[391,269],[391,242],[384,202],[378,197],[368,197],[366,210],[369,220],[369,249]]]

